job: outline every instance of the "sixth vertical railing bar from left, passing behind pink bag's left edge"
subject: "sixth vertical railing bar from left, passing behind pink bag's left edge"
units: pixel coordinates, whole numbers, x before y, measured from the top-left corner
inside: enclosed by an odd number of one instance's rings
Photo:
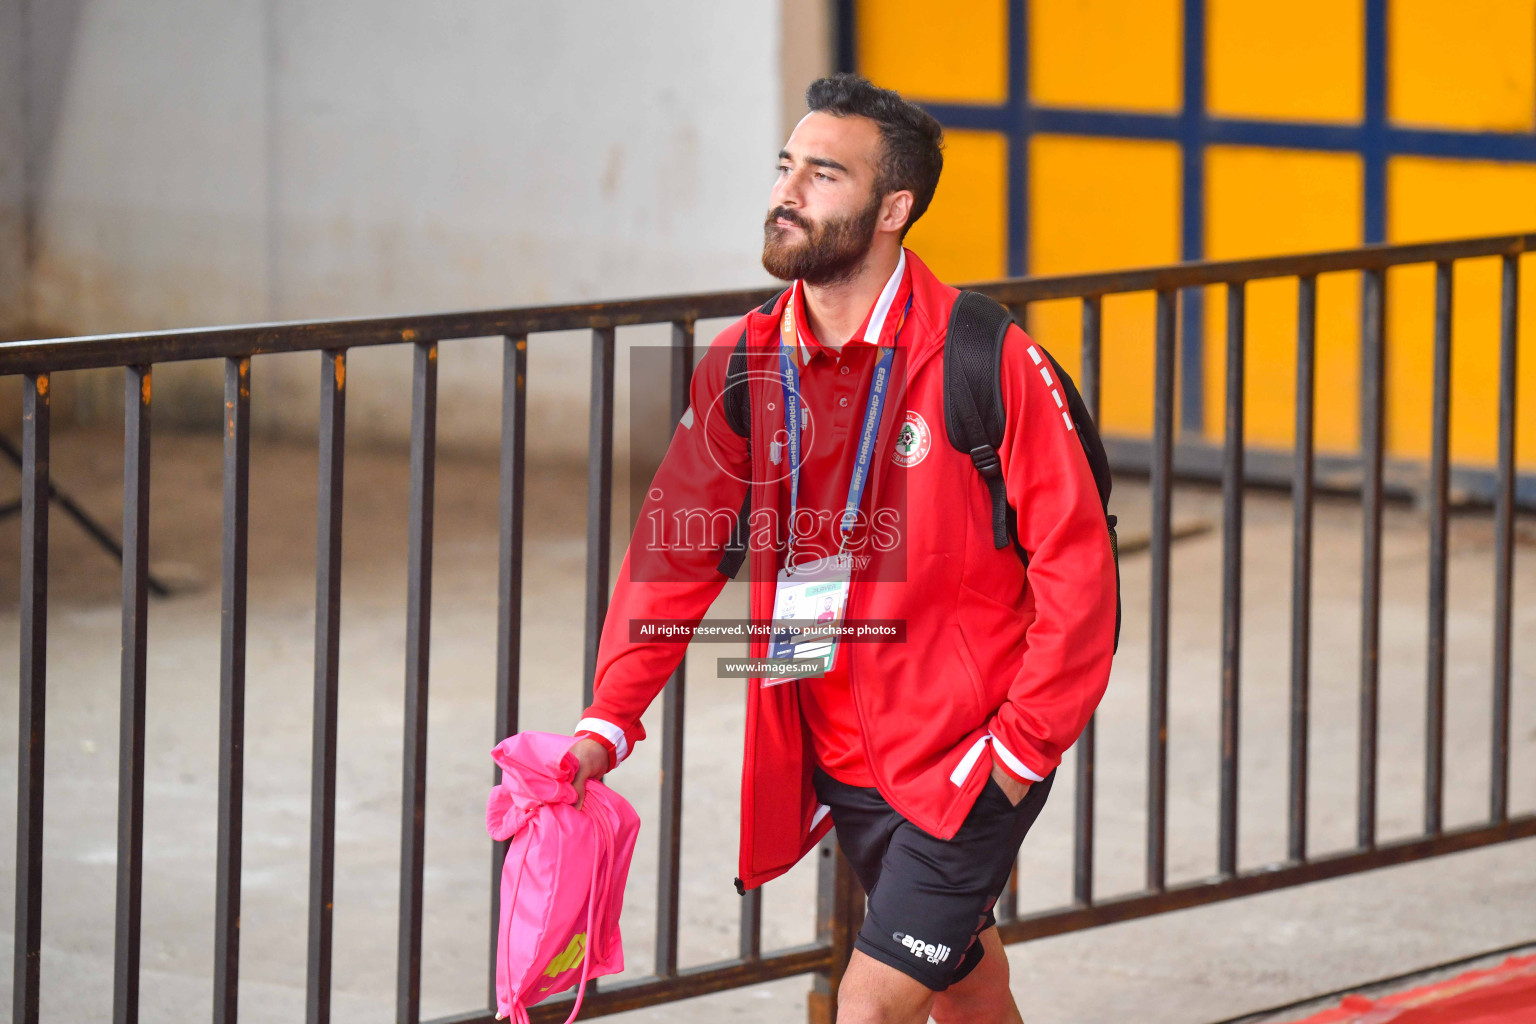
[[[492,742],[518,731],[522,689],[522,499],[527,465],[528,339],[502,339],[501,356],[501,508],[496,594],[496,720]],[[492,768],[492,786],[501,785],[501,766]],[[492,840],[490,943],[485,1004],[496,1006],[496,941],[501,927],[501,864],[510,840]]]

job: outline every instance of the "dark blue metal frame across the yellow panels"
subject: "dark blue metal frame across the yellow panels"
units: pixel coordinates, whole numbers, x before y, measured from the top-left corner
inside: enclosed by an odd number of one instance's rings
[[[1207,146],[1269,146],[1359,154],[1364,161],[1366,244],[1385,241],[1387,160],[1441,157],[1536,163],[1533,132],[1458,132],[1398,127],[1387,120],[1387,0],[1366,5],[1366,111],[1359,124],[1263,121],[1212,117],[1206,109],[1206,0],[1184,0],[1184,104],[1178,114],[1117,114],[1044,107],[1029,101],[1028,0],[1008,0],[1008,100],[925,103],[946,127],[1001,132],[1008,138],[1008,275],[1029,273],[1029,138],[1035,134],[1140,138],[1178,143],[1181,150],[1180,255],[1206,255]],[[857,71],[856,0],[836,0],[839,71]],[[1183,293],[1180,425],[1204,430],[1204,318],[1200,289]]]

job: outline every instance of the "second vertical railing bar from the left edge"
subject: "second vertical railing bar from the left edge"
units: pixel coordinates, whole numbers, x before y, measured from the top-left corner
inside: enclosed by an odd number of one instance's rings
[[[138,953],[144,892],[144,643],[149,639],[149,399],[151,368],[126,367],[114,1024],[135,1024],[138,1021]]]

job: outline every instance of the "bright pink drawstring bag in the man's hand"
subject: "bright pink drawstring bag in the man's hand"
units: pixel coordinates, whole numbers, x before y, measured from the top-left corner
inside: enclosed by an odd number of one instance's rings
[[[528,1007],[573,984],[581,1013],[587,979],[624,970],[619,910],[641,818],[596,780],[574,808],[576,740],[518,732],[496,745],[501,783],[485,803],[485,827],[511,840],[501,866],[496,1016],[528,1024]]]

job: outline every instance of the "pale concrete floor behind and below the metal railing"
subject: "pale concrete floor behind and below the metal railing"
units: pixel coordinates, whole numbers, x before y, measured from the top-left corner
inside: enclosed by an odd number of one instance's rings
[[[63,434],[54,474],[120,522],[121,438]],[[522,723],[567,731],[581,709],[585,468],[530,470]],[[617,474],[616,479],[625,479]],[[6,482],[12,481],[12,482]],[[392,1019],[399,863],[407,462],[347,454],[338,757],[335,1019]],[[424,1013],[484,1006],[496,646],[496,467],[444,457],[432,631]],[[0,477],[0,496],[14,493]],[[155,438],[152,554],[178,593],[154,602],[144,838],[143,1019],[203,1019],[212,993],[218,780],[220,441]],[[306,969],[309,751],[313,645],[312,445],[258,442],[252,454],[250,639],[246,746],[241,1016],[301,1019]],[[1124,482],[1126,533],[1146,522],[1146,488]],[[1290,511],[1284,494],[1246,507],[1241,866],[1284,855]],[[624,513],[616,516],[625,522]],[[1220,496],[1181,488],[1177,519],[1220,524]],[[1536,806],[1536,563],[1522,527],[1516,580],[1516,811]],[[0,717],[15,722],[18,527],[0,528]],[[622,551],[619,539],[616,551]],[[1381,659],[1381,837],[1419,824],[1425,528],[1390,508]],[[74,524],[54,517],[49,617],[43,1018],[101,1019],[112,990],[120,582]],[[1215,869],[1218,531],[1174,553],[1169,878]],[[1491,527],[1455,522],[1452,540],[1447,823],[1485,814],[1491,663]],[[617,557],[614,559],[617,563]],[[1310,829],[1315,851],[1353,840],[1359,513],[1318,507]],[[1147,557],[1123,565],[1126,626],[1100,712],[1098,892],[1141,884],[1146,791]],[[713,614],[740,614],[731,585]],[[734,949],[736,801],[743,699],[714,677],[728,648],[691,654],[687,709],[682,963]],[[659,711],[659,702],[657,708]],[[653,731],[653,734],[657,731]],[[614,786],[654,821],[659,743]],[[1068,765],[1071,765],[1071,755]],[[0,731],[0,924],[14,898],[15,731]],[[1021,858],[1026,909],[1066,901],[1071,772]],[[656,851],[642,832],[625,903],[636,973],[651,955]],[[802,864],[766,889],[765,949],[811,938],[814,875]],[[1032,1022],[1200,1024],[1536,938],[1536,843],[1476,851],[1200,910],[1017,946],[1015,992]],[[0,935],[9,963],[11,936]],[[0,1004],[9,1004],[9,970]],[[636,1021],[799,1021],[808,979],[637,1012]]]

